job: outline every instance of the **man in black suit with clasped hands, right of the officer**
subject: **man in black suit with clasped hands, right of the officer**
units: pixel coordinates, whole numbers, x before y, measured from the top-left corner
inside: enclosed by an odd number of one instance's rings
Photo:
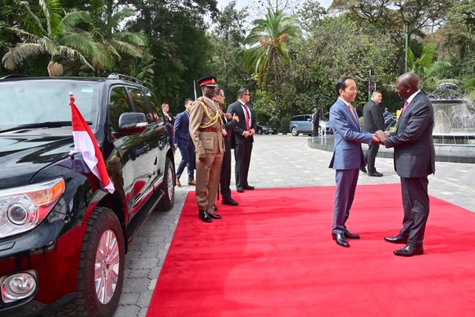
[[[253,190],[254,187],[247,182],[251,153],[253,152],[256,122],[254,112],[249,106],[249,90],[241,88],[237,91],[237,101],[231,103],[228,112],[239,117],[237,126],[233,128],[231,137],[234,139],[234,159],[236,161],[234,172],[236,176],[237,192]]]

